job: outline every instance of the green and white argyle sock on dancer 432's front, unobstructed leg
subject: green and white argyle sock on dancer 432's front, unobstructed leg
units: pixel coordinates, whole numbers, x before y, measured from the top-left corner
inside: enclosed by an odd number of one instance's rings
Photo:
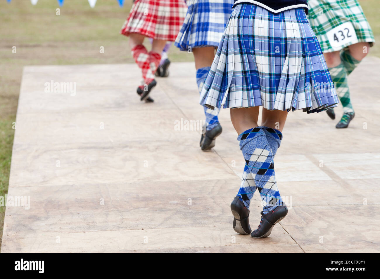
[[[332,82],[336,85],[336,93],[343,106],[343,112],[353,113],[354,109],[351,104],[350,90],[347,83],[347,71],[343,62],[340,65],[329,68]]]

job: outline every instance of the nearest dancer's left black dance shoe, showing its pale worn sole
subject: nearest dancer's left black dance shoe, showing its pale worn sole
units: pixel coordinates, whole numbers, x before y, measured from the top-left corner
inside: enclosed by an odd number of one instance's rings
[[[232,223],[234,231],[242,235],[249,235],[252,231],[249,225],[249,209],[239,200],[239,196],[236,196],[231,202],[231,212],[234,216]]]

